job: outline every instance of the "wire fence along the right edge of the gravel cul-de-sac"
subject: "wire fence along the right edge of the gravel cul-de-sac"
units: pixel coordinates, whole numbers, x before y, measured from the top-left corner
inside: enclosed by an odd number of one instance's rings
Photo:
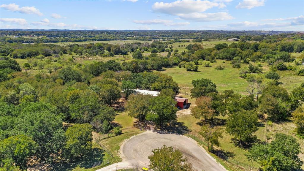
[[[182,130],[182,129],[181,129],[181,131],[182,131],[185,135],[187,135],[188,137],[194,139],[195,141],[200,142],[200,143],[203,144],[203,145],[206,145],[206,147],[209,148],[208,143],[206,143],[206,142],[203,140],[203,138],[198,137],[198,136],[196,136],[196,135],[190,133],[189,131],[185,131],[185,130]],[[223,159],[223,160],[229,162],[230,164],[232,164],[232,165],[234,165],[234,166],[237,166],[238,168],[240,168],[240,169],[242,169],[242,170],[248,170],[248,171],[260,171],[260,170],[261,170],[261,169],[255,168],[255,167],[253,167],[253,166],[249,166],[249,165],[247,165],[247,164],[245,164],[245,163],[239,162],[239,161],[237,161],[237,160],[232,159],[231,157],[228,157],[228,156],[224,155],[224,154],[221,152],[222,150],[221,150],[220,148],[218,148],[218,147],[213,146],[213,148],[214,148],[215,151],[216,151],[216,152],[214,153],[215,155],[217,155],[219,158],[221,158],[221,159]]]

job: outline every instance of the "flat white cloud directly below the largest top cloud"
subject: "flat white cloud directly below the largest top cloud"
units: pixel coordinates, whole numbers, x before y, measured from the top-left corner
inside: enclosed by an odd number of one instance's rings
[[[181,19],[192,20],[192,21],[219,21],[219,20],[229,20],[233,17],[227,12],[217,12],[217,13],[192,13],[192,14],[181,14],[179,15]]]

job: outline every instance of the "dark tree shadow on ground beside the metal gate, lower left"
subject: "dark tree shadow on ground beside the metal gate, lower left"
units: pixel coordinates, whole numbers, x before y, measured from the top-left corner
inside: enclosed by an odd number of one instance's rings
[[[104,151],[100,148],[92,148],[87,155],[82,155],[71,161],[54,162],[51,164],[52,170],[56,171],[70,171],[76,167],[91,168],[93,162],[99,162],[104,160]]]

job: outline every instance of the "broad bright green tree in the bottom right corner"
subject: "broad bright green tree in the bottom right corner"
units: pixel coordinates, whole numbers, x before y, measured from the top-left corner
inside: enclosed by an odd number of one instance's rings
[[[271,143],[254,145],[247,155],[248,160],[258,162],[262,169],[276,171],[300,169],[300,145],[290,135],[278,133]]]

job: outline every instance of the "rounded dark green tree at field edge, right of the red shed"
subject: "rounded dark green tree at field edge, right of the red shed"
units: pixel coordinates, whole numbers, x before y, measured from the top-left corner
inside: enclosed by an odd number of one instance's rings
[[[192,85],[191,97],[198,98],[206,96],[210,92],[217,92],[216,85],[209,79],[192,80]]]

